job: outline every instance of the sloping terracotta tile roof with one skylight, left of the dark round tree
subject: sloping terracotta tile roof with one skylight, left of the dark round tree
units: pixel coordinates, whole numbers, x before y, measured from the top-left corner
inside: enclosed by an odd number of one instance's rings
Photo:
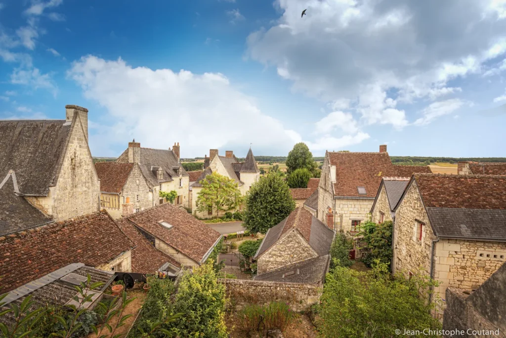
[[[176,250],[200,263],[214,247],[221,234],[196,219],[186,210],[170,203],[146,209],[128,217],[137,227],[157,237]],[[167,229],[160,220],[171,224]]]

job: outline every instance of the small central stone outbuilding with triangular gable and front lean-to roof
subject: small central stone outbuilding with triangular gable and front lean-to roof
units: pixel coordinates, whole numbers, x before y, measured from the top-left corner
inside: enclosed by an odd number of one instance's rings
[[[308,210],[296,208],[267,231],[254,257],[255,280],[320,282],[328,269],[334,235]]]

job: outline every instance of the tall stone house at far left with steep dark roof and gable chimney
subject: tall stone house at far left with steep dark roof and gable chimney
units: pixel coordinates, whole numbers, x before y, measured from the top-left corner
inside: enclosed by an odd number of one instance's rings
[[[88,109],[66,105],[65,120],[0,121],[0,158],[0,180],[14,179],[10,192],[51,219],[99,210],[100,182],[88,146]]]

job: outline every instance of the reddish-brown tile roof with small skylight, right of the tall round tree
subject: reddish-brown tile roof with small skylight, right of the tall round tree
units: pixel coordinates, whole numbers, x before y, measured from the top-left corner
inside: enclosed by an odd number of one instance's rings
[[[396,166],[388,153],[328,153],[335,166],[334,196],[374,198],[382,177],[410,177],[414,172],[430,172],[427,166]],[[358,186],[366,194],[358,193]]]

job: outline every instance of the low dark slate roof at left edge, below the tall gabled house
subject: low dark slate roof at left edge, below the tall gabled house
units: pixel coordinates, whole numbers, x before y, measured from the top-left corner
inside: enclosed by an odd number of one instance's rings
[[[9,171],[0,181],[0,236],[33,228],[52,219],[15,194],[16,173]]]

